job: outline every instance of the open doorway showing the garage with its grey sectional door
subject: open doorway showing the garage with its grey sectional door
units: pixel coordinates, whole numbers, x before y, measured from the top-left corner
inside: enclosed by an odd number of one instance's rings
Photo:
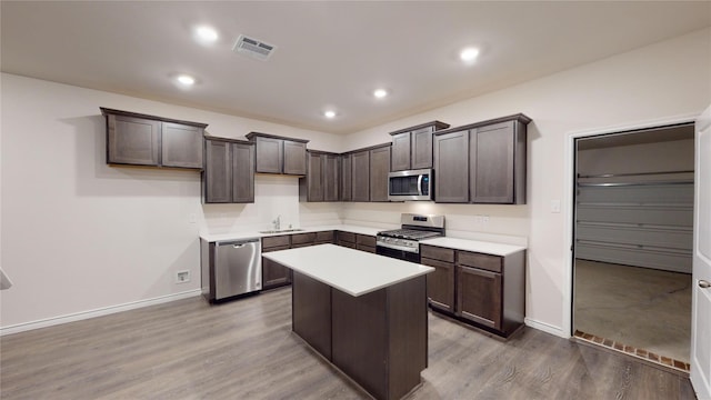
[[[689,371],[693,123],[575,139],[573,336]]]

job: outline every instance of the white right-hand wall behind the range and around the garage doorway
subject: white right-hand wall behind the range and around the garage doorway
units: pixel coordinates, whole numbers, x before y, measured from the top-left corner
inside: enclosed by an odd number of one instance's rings
[[[532,118],[533,122],[528,126],[528,204],[438,204],[437,209],[447,216],[448,226],[455,221],[459,229],[467,230],[467,236],[528,237],[527,322],[568,336],[564,302],[569,296],[565,262],[570,257],[570,238],[563,232],[571,204],[563,203],[561,212],[553,213],[551,201],[565,198],[564,182],[572,179],[563,174],[569,134],[698,114],[711,103],[709,71],[711,29],[704,29],[353,133],[347,138],[347,147],[381,143],[388,140],[390,131],[431,120],[460,126],[517,112]],[[400,209],[387,206],[392,204],[377,207],[377,219],[397,220]],[[373,221],[371,209],[372,204],[348,204],[344,218],[351,222],[370,222]],[[477,214],[491,216],[490,222],[477,224]]]

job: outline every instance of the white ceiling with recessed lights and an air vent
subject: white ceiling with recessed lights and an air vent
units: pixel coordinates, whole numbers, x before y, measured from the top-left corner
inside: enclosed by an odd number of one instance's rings
[[[0,4],[3,72],[333,133],[711,26],[711,1]],[[193,40],[201,23],[216,44]],[[237,54],[240,33],[277,50],[266,62]],[[481,49],[473,66],[458,59],[464,46]],[[178,88],[180,72],[197,84]],[[391,96],[374,99],[377,87]]]

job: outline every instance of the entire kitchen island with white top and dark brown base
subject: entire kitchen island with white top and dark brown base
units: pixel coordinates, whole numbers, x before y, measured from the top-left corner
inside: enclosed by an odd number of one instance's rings
[[[433,268],[334,244],[263,257],[293,270],[292,330],[313,350],[375,399],[421,383]]]

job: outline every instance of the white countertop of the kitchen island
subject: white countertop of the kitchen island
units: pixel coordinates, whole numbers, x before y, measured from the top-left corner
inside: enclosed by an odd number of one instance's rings
[[[271,251],[262,257],[351,296],[365,294],[434,271],[431,267],[336,244]]]

